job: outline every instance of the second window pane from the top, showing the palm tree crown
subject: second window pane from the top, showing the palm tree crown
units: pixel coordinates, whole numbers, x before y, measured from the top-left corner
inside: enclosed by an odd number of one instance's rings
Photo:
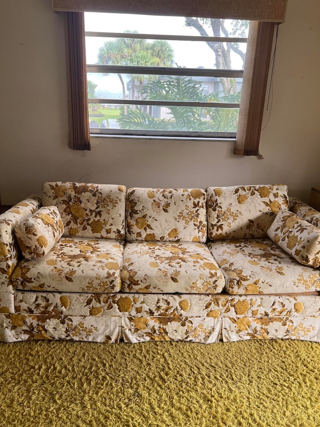
[[[243,70],[246,43],[86,37],[85,50],[87,64]]]

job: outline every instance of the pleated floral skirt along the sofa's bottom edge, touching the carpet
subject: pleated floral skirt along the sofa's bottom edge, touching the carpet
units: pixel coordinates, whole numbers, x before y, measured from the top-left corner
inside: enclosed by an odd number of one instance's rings
[[[189,341],[203,344],[246,339],[320,342],[320,316],[308,317],[95,317],[0,314],[0,341],[34,339],[128,343]]]

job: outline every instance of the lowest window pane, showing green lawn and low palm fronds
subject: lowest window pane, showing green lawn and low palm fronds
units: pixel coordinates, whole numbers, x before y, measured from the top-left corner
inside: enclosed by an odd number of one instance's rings
[[[90,129],[236,132],[238,108],[89,104]]]

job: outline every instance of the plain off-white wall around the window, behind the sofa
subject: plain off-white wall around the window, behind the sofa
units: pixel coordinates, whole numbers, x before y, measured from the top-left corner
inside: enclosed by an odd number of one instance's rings
[[[318,0],[288,0],[271,116],[261,133],[264,160],[234,156],[231,142],[92,138],[90,152],[68,149],[62,19],[50,0],[1,6],[2,204],[39,192],[47,180],[201,188],[285,183],[304,201],[320,184]]]

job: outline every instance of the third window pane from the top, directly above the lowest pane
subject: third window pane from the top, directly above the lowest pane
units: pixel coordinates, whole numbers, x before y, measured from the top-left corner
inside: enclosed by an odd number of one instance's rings
[[[87,73],[88,97],[239,103],[242,79]]]

